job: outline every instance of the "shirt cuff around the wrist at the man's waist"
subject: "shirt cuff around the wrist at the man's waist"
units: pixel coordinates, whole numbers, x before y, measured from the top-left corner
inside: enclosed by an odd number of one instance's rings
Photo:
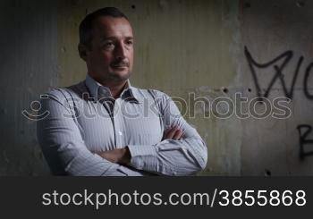
[[[127,146],[131,154],[131,166],[139,170],[157,172],[157,148],[148,145]]]

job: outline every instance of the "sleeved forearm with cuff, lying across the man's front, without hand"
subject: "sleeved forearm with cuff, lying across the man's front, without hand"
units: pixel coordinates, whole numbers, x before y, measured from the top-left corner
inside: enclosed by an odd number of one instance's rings
[[[155,146],[132,145],[130,165],[161,175],[192,175],[207,164],[207,147],[198,138],[166,139]]]

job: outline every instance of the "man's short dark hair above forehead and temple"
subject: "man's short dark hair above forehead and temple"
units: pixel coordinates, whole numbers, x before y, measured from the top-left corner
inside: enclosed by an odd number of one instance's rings
[[[101,17],[101,16],[125,18],[128,21],[127,16],[115,7],[100,8],[93,13],[89,13],[80,22],[80,44],[90,46],[91,39],[92,39],[93,21],[95,21],[98,17]]]

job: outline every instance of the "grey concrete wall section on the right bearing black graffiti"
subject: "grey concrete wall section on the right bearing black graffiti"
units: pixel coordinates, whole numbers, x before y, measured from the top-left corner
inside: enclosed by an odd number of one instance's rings
[[[264,90],[277,75],[275,65],[282,69],[286,91],[281,80],[275,80],[268,97],[291,97],[292,115],[286,120],[267,118],[242,122],[241,172],[244,174],[312,174],[313,156],[299,158],[300,135],[297,126],[313,125],[313,74],[307,71],[313,62],[313,27],[310,21],[312,1],[245,1],[241,4],[241,54],[238,64],[237,84],[252,88],[256,96],[256,82]],[[258,63],[268,63],[290,51],[275,63],[255,68],[253,80],[243,46],[246,46]],[[299,71],[297,74],[297,65]],[[305,74],[309,77],[305,78]],[[294,87],[292,88],[292,80]],[[308,85],[308,88],[305,87]],[[302,130],[304,133],[305,129]],[[313,139],[313,132],[306,139]],[[306,148],[313,145],[306,145]]]

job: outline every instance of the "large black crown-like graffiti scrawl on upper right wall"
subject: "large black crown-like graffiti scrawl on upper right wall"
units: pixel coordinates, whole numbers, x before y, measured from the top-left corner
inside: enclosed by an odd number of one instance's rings
[[[298,63],[296,65],[295,71],[293,73],[293,77],[292,77],[292,84],[291,84],[291,88],[288,89],[285,83],[284,75],[283,75],[283,70],[285,69],[285,67],[287,66],[287,64],[292,60],[293,57],[293,51],[289,50],[284,52],[282,55],[278,55],[275,59],[267,62],[267,63],[257,63],[257,61],[255,59],[253,59],[252,55],[250,54],[250,51],[248,50],[247,46],[244,47],[244,54],[246,55],[249,67],[250,67],[250,71],[255,83],[255,86],[257,88],[257,96],[258,97],[268,97],[269,93],[271,91],[271,88],[273,87],[274,83],[276,80],[280,80],[283,86],[283,92],[284,95],[288,98],[293,97],[293,90],[294,90],[294,86],[295,83],[298,79],[298,75],[300,72],[300,67],[303,63],[303,56],[300,56]],[[275,63],[279,62],[283,60],[283,63],[281,63],[280,65],[277,65]],[[272,80],[269,82],[268,87],[265,90],[265,93],[262,94],[259,82],[258,82],[258,76],[255,70],[255,67],[259,68],[259,69],[265,69],[268,67],[273,67],[275,74],[274,77],[272,78]],[[303,80],[303,89],[304,89],[304,95],[306,97],[308,97],[309,99],[313,100],[313,94],[309,93],[309,88],[308,88],[308,81],[309,81],[309,74],[311,72],[311,69],[313,68],[313,62],[309,63],[309,66],[307,67],[305,74],[304,74],[304,80]]]

